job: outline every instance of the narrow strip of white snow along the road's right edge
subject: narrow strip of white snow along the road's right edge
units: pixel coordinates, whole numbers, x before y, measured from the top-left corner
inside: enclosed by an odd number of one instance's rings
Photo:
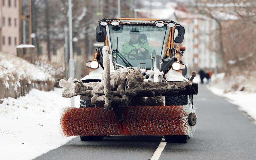
[[[208,89],[216,95],[227,98],[230,103],[239,106],[239,110],[245,112],[254,121],[256,121],[256,105],[254,101],[256,98],[256,93],[241,91],[224,93],[224,89],[214,86],[208,86]]]

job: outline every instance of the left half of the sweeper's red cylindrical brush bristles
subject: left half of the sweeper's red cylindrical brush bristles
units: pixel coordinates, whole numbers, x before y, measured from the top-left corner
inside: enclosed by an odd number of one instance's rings
[[[60,120],[65,136],[119,135],[121,124],[104,108],[67,108]]]

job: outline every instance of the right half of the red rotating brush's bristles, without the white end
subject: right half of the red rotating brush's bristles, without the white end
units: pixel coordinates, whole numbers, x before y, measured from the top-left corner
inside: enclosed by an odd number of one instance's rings
[[[185,135],[183,106],[129,107],[124,112],[123,135]]]

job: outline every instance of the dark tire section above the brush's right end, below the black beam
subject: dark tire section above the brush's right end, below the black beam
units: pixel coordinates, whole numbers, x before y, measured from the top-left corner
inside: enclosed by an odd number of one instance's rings
[[[188,104],[188,95],[180,96],[165,96],[165,105],[168,106],[181,106]]]

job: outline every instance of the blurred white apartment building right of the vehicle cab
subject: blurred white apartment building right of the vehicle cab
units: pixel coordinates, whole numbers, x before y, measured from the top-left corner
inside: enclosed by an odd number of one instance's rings
[[[185,28],[183,46],[187,48],[182,57],[188,68],[216,68],[217,54],[216,46],[217,24],[202,15],[176,10],[175,14],[179,23]]]

